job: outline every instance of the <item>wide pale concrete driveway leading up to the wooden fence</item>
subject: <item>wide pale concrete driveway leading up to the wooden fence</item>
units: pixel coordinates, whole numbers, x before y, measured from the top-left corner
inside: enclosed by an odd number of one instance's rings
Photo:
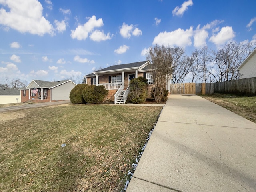
[[[256,124],[171,95],[126,192],[255,192]]]

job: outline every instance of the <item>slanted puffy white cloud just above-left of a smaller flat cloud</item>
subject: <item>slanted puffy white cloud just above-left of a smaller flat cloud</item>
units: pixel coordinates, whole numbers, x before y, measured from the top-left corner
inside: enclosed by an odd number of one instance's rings
[[[75,30],[71,30],[71,38],[77,40],[85,40],[88,33],[92,32],[95,27],[103,26],[103,20],[96,20],[96,16],[92,16],[84,25],[78,25]]]

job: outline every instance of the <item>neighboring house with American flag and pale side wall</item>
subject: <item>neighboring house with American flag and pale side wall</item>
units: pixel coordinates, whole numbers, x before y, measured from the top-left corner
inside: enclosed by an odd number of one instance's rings
[[[71,80],[32,80],[26,88],[20,89],[21,102],[52,102],[69,100],[70,91],[76,86]]]

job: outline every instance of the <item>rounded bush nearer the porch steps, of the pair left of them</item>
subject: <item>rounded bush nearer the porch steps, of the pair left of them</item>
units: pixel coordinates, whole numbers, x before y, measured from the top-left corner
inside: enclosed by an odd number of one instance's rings
[[[104,99],[108,95],[108,90],[101,85],[88,85],[83,90],[83,98],[86,103],[88,104],[94,104],[94,103],[102,103],[104,102]]]

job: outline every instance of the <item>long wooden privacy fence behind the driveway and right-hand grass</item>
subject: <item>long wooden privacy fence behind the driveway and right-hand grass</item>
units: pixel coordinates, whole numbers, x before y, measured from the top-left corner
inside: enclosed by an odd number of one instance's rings
[[[170,94],[240,93],[256,95],[256,77],[216,83],[178,83],[170,85]]]

